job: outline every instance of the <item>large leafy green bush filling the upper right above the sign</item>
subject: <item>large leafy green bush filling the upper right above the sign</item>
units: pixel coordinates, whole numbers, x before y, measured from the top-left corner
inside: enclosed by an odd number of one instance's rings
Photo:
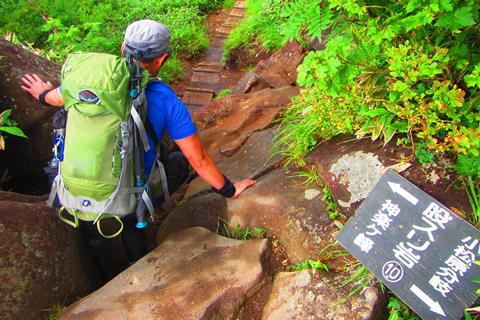
[[[421,161],[441,152],[480,155],[480,3],[275,3],[270,8],[278,11],[259,13],[248,24],[276,19],[278,45],[288,39],[325,43],[299,66],[297,83],[304,89],[283,114],[277,145],[288,162],[302,165],[305,154],[338,134],[385,144],[407,135],[404,141],[423,144]]]

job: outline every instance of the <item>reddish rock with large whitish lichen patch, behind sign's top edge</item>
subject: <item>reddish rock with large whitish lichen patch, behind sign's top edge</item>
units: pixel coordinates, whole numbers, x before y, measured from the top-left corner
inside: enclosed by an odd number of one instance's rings
[[[446,206],[464,210],[468,208],[464,190],[452,186],[457,177],[448,159],[440,158],[436,163],[424,165],[411,159],[411,148],[399,147],[394,143],[383,146],[370,139],[355,140],[344,136],[322,143],[308,157],[348,215],[352,215],[368,196],[387,167],[402,162],[410,162],[411,166],[400,174],[420,189]]]

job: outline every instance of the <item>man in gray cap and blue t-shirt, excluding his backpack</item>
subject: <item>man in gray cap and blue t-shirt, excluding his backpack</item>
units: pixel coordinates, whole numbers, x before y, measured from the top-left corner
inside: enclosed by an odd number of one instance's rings
[[[132,54],[140,57],[141,67],[151,76],[157,76],[170,54],[170,32],[161,23],[152,20],[140,20],[130,24],[125,32],[122,43],[122,54]],[[138,55],[140,54],[140,55]],[[61,87],[54,88],[50,82],[43,81],[39,76],[25,74],[22,78],[24,85],[21,88],[38,99],[45,106],[63,107],[64,97]],[[65,94],[65,93],[64,93]],[[168,157],[168,164],[173,167],[168,179],[169,189],[173,192],[188,178],[188,165],[207,183],[213,191],[230,198],[237,197],[246,188],[255,184],[254,180],[243,180],[233,184],[218,169],[205,147],[201,144],[197,130],[186,106],[175,93],[163,82],[149,82],[145,88],[148,104],[147,120],[153,127],[156,140],[160,141],[167,130],[170,137],[181,150],[181,154],[173,153]],[[152,137],[148,137],[149,144],[153,145]],[[144,154],[145,172],[149,172],[155,161],[154,148]],[[122,218],[125,230],[123,237],[133,237],[133,241],[124,239],[127,255],[132,261],[138,260],[146,253],[146,240],[142,229],[135,228],[135,214]],[[131,246],[132,248],[128,248]]]

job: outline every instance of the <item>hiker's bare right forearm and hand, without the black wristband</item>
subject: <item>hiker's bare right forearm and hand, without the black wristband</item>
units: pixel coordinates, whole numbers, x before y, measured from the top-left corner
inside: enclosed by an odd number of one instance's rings
[[[200,142],[197,134],[175,140],[175,142],[200,177],[217,190],[224,186],[225,179],[223,178],[223,174]],[[240,193],[255,183],[255,180],[250,179],[236,182],[234,184],[235,194],[233,197],[238,197]]]

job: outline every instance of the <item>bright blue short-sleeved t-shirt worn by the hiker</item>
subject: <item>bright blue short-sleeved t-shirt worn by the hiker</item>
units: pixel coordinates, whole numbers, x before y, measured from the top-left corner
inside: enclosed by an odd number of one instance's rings
[[[187,107],[169,86],[161,81],[148,84],[145,89],[148,102],[147,119],[157,134],[158,141],[165,129],[173,140],[183,139],[197,133]],[[148,137],[150,150],[145,153],[145,174],[150,173],[155,159],[154,143]]]

